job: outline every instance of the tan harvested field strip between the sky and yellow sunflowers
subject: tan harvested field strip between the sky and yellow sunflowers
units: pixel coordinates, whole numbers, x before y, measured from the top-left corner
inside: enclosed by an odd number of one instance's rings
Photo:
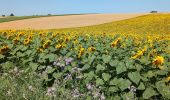
[[[98,25],[112,21],[129,19],[144,14],[87,14],[52,16],[0,23],[0,30],[5,29],[59,29]]]

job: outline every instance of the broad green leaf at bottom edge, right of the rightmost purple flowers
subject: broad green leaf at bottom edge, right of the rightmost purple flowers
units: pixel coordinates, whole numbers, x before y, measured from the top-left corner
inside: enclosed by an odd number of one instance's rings
[[[149,87],[147,88],[144,93],[143,93],[143,98],[144,99],[149,99],[151,98],[152,96],[156,95],[156,92],[153,88]]]

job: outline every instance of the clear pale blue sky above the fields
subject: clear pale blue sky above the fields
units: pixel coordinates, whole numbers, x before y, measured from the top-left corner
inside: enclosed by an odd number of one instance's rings
[[[170,0],[0,0],[0,15],[170,11]]]

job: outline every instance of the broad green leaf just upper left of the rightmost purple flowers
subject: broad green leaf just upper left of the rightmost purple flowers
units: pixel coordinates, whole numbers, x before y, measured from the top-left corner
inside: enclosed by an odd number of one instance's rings
[[[120,78],[118,82],[118,86],[122,91],[127,89],[132,84],[129,80],[123,78]]]

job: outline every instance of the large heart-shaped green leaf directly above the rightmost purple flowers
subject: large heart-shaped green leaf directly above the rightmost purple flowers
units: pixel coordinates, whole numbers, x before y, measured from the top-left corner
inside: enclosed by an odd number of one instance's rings
[[[134,82],[134,83],[136,83],[136,85],[138,85],[138,83],[140,81],[139,72],[136,71],[136,72],[128,73],[128,77],[132,82]]]

